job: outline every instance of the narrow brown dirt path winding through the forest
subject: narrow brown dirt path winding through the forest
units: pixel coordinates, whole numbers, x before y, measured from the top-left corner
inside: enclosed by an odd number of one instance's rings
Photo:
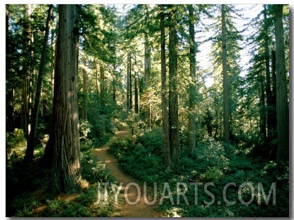
[[[115,134],[116,136],[123,138],[124,136],[128,135],[128,133],[128,131],[118,131]],[[135,202],[137,199],[139,199],[139,197],[137,196],[137,188],[134,185],[130,185],[127,191],[128,199],[134,204],[128,204],[126,199],[123,199],[124,204],[122,217],[161,217],[162,214],[154,210],[157,206],[156,203],[154,205],[148,205],[145,203],[143,197],[143,185],[141,185],[139,182],[136,182],[136,180],[133,180],[132,178],[126,176],[125,174],[123,174],[123,172],[119,170],[118,161],[116,158],[113,158],[113,156],[108,154],[108,148],[108,145],[103,145],[101,148],[95,149],[94,154],[99,160],[101,160],[103,163],[106,163],[106,168],[110,170],[111,175],[118,182],[118,185],[120,185],[120,182],[123,182],[123,187],[120,192],[125,193],[125,186],[128,185],[130,182],[137,183],[141,190],[140,200],[139,202]],[[153,192],[153,189],[147,187],[147,192]],[[152,202],[152,200],[153,194],[152,197],[148,199],[148,201]]]

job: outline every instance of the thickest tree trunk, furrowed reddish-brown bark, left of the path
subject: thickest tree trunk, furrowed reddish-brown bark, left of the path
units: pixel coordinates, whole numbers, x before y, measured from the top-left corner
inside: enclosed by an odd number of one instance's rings
[[[79,165],[79,111],[77,6],[59,6],[59,30],[53,99],[52,168],[53,192],[77,192],[81,175]]]

